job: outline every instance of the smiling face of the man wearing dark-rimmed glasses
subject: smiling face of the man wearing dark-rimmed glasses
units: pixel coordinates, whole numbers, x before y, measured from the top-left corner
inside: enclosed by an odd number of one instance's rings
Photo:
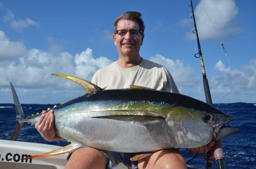
[[[135,31],[139,30],[139,25],[137,22],[132,20],[121,19],[117,23],[117,31],[126,30],[127,32],[124,36],[113,34],[113,39],[119,55],[122,56],[139,56],[140,46],[142,45],[144,35],[140,33],[136,34]]]

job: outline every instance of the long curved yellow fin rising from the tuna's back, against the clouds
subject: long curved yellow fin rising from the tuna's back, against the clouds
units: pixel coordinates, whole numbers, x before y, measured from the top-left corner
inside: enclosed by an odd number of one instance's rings
[[[80,78],[76,78],[76,77],[69,76],[69,75],[61,75],[61,74],[52,74],[52,75],[58,76],[58,77],[62,77],[62,78],[66,78],[66,79],[69,79],[69,80],[72,80],[72,81],[78,83],[84,89],[86,89],[88,94],[91,93],[91,92],[102,90],[100,87],[96,86],[95,84],[93,84],[93,83],[91,83],[89,81],[80,79]]]

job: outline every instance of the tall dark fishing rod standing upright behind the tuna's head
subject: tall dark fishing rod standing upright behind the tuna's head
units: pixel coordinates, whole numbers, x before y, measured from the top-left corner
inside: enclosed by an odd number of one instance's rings
[[[205,67],[204,67],[203,54],[202,54],[202,51],[201,51],[201,46],[200,46],[200,41],[199,41],[199,36],[198,36],[198,31],[197,31],[197,25],[196,25],[196,19],[195,19],[195,15],[194,15],[194,9],[193,9],[192,0],[190,0],[190,7],[191,7],[191,10],[192,10],[191,18],[193,18],[193,20],[194,20],[194,27],[195,27],[195,30],[193,31],[193,33],[196,34],[197,45],[198,45],[198,53],[195,54],[195,57],[199,58],[200,59],[200,63],[201,63],[206,103],[212,106],[212,100],[211,100],[211,95],[210,95],[210,88],[209,88],[208,80],[206,78],[206,71],[205,71]],[[197,56],[197,55],[199,55],[199,56]],[[215,157],[215,160],[217,162],[218,169],[225,169],[224,154],[223,154],[221,140],[217,140],[215,142],[215,145],[212,148],[212,150],[214,150],[214,157]],[[207,157],[209,158],[209,155],[207,155]],[[211,166],[211,164],[207,164],[207,162],[210,160],[208,158],[206,159],[207,160],[206,161],[206,167],[207,168],[209,168]]]

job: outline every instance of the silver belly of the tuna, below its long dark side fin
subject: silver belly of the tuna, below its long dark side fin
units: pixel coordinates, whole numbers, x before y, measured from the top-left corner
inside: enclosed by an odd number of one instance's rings
[[[115,152],[149,152],[171,148],[165,132],[165,120],[137,116],[126,120],[62,116],[56,123],[58,135],[71,142]],[[66,119],[66,120],[63,120]],[[144,118],[144,119],[143,119]],[[145,123],[143,123],[145,122]]]

